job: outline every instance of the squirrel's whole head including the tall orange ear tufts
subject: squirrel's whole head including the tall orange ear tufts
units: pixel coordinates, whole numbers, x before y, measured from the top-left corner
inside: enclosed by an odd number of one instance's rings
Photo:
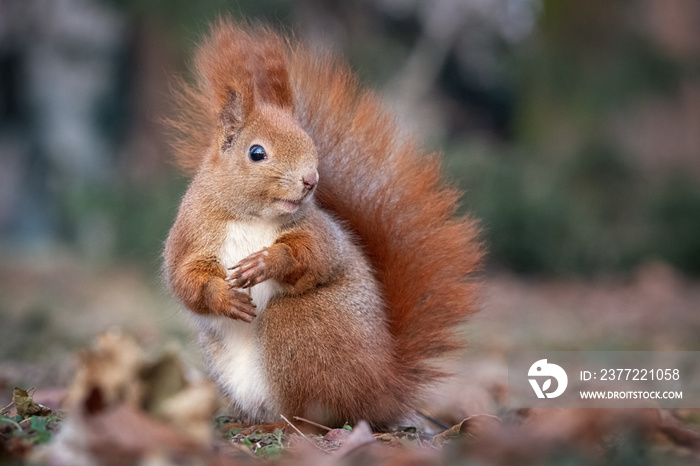
[[[262,40],[267,36],[268,40]],[[197,68],[217,115],[198,177],[238,218],[285,219],[305,209],[318,183],[318,156],[294,117],[284,46],[264,28],[215,26]]]

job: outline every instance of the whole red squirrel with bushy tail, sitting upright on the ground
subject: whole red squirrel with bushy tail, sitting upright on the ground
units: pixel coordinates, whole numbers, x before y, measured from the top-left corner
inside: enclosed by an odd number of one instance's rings
[[[267,27],[219,20],[195,67],[164,268],[213,378],[250,422],[409,418],[464,347],[483,255],[439,157],[345,64]]]

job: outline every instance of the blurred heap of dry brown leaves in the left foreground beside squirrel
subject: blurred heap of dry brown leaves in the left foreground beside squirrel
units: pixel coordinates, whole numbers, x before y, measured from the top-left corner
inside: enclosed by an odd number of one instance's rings
[[[47,448],[61,464],[212,451],[213,385],[187,380],[174,353],[147,363],[136,342],[121,333],[101,335],[81,352],[67,398],[67,420]]]

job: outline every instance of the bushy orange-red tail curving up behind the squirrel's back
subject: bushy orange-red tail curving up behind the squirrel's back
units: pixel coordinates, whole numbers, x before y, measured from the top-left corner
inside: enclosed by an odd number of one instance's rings
[[[476,223],[455,216],[460,192],[441,176],[439,156],[402,136],[347,66],[296,47],[290,78],[296,116],[318,149],[317,198],[360,238],[383,286],[402,378],[424,386],[443,375],[436,358],[463,348],[456,331],[477,308]]]

